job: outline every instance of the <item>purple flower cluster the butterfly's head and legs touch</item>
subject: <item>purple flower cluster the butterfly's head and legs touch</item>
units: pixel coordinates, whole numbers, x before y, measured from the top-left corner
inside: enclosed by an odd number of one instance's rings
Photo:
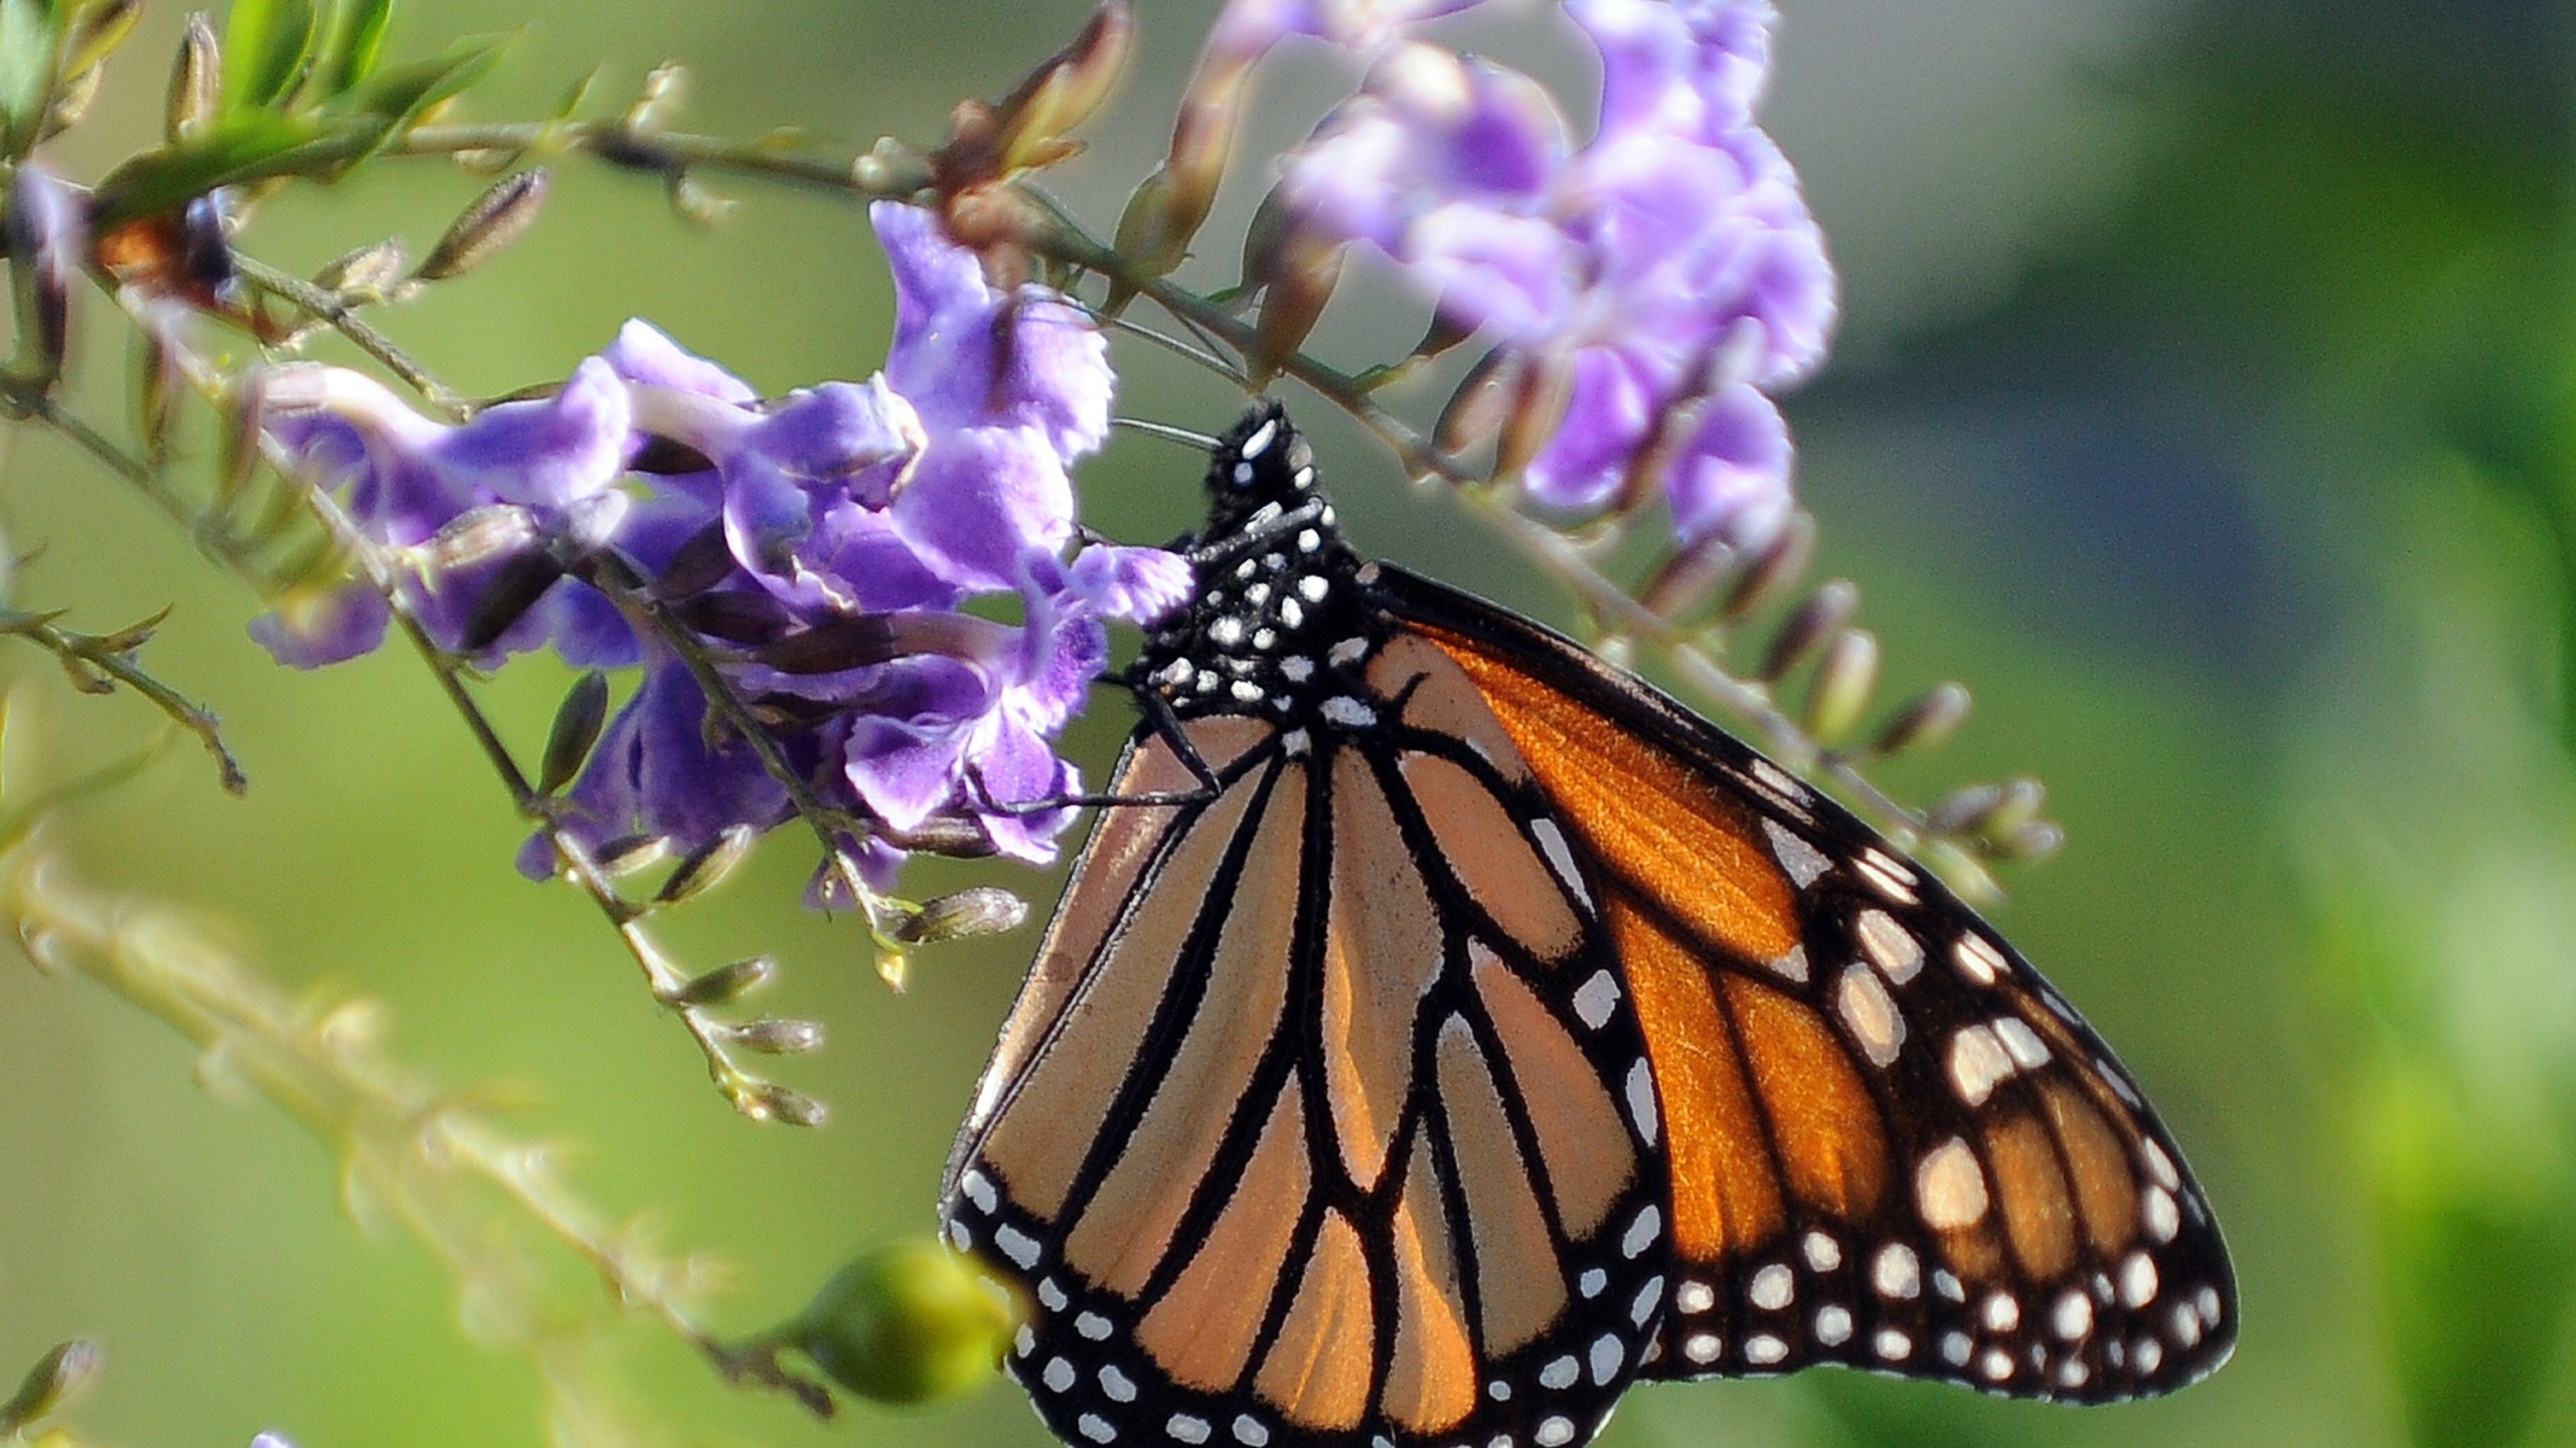
[[[719,660],[824,804],[884,824],[860,848],[878,884],[933,817],[1046,861],[1072,812],[1023,806],[1079,791],[1051,739],[1108,660],[1105,621],[1151,621],[1190,593],[1188,562],[1159,549],[1069,554],[1066,469],[1108,433],[1100,332],[1054,291],[994,289],[930,214],[871,216],[896,335],[863,384],[760,399],[644,322],[551,397],[453,428],[353,371],[265,376],[270,433],[381,544],[433,642],[641,667],[567,796],[590,845],[688,853],[791,814],[659,613]],[[963,611],[999,595],[1018,624]],[[304,667],[384,629],[366,582],[255,624]],[[541,840],[523,868],[551,868]]]

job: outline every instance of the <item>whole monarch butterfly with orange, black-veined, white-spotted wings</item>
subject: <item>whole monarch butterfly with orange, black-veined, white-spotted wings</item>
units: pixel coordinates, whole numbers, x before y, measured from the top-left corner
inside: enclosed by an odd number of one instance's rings
[[[1940,881],[1571,639],[1363,562],[1278,405],[943,1190],[1069,1443],[1574,1448],[1638,1378],[2110,1402],[2228,1358],[2110,1049]],[[1159,716],[1159,721],[1154,721]]]

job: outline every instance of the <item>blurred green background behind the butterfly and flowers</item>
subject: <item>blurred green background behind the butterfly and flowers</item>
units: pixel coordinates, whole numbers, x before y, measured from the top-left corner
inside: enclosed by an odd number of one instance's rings
[[[1097,224],[1159,149],[1213,5],[1141,0],[1133,82],[1059,186]],[[544,113],[592,62],[618,98],[693,64],[690,129],[935,139],[1082,15],[1069,0],[500,0],[415,5],[394,52],[528,33],[477,113]],[[2115,1041],[2187,1144],[2244,1278],[2236,1363],[2115,1409],[2002,1404],[1842,1373],[1631,1394],[1646,1445],[2576,1443],[2576,10],[2512,0],[1783,0],[1770,119],[1844,276],[1834,368],[1793,399],[1824,569],[1857,577],[1896,685],[1968,680],[1978,716],[1909,760],[1917,796],[2030,770],[2071,832],[1999,920]],[[111,67],[54,162],[95,178],[157,131],[175,8]],[[1502,54],[1582,70],[1499,23]],[[1262,134],[1334,72],[1291,59]],[[611,100],[616,103],[616,100]],[[376,167],[260,214],[242,242],[312,268],[425,245],[479,180]],[[466,392],[562,376],[629,314],[778,392],[884,358],[860,216],[788,191],[721,229],[580,162],[544,224],[386,325]],[[1211,237],[1221,281],[1257,183]],[[98,322],[95,296],[82,299]],[[1365,307],[1321,345],[1401,338]],[[77,384],[121,405],[90,332]],[[1121,410],[1216,428],[1213,379],[1123,343]],[[1309,415],[1316,412],[1309,407]],[[1507,554],[1319,425],[1363,546],[1546,616]],[[1195,461],[1118,441],[1084,474],[1123,538],[1190,523]],[[734,1265],[726,1329],[786,1317],[853,1250],[927,1229],[940,1159],[1036,928],[925,953],[907,995],[850,922],[796,907],[781,832],[680,912],[698,964],[775,951],[783,1013],[832,1041],[783,1067],[819,1134],[734,1118],[590,907],[510,868],[520,827],[399,649],[276,670],[252,603],[121,484],[0,435],[0,528],[41,544],[15,603],[106,631],[175,613],[149,660],[211,701],[252,773],[193,752],[88,812],[98,884],[198,907],[276,979],[392,1010],[389,1051],[446,1085],[518,1082],[515,1131],[662,1242]],[[149,732],[0,654],[72,768]],[[533,750],[564,688],[495,688]],[[15,719],[28,745],[26,719]],[[1126,711],[1072,742],[1095,768]],[[33,778],[31,770],[28,776]],[[994,879],[925,866],[914,886]],[[1033,899],[1054,881],[1025,884]],[[577,1288],[580,1283],[574,1283]],[[572,1293],[580,1301],[580,1293]],[[325,1152],[191,1080],[160,1023],[80,979],[0,966],[0,1371],[108,1345],[80,1412],[137,1448],[538,1443],[536,1376],[456,1329],[448,1278],[340,1211]],[[721,1389],[667,1335],[613,1337],[670,1443],[1038,1445],[1007,1384],[819,1427]]]

